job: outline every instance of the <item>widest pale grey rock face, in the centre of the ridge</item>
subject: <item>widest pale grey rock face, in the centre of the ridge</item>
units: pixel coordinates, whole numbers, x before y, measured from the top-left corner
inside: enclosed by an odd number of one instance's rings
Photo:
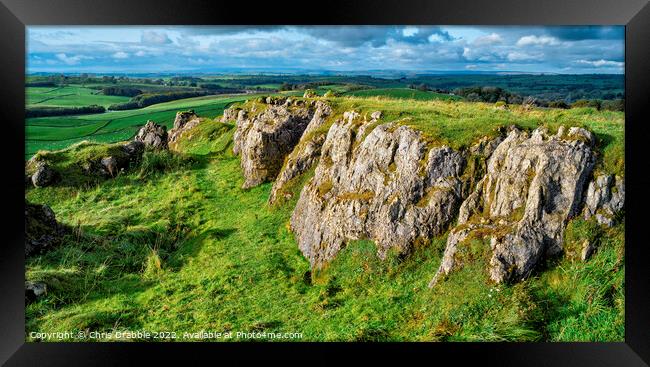
[[[332,125],[291,217],[298,246],[316,268],[350,240],[374,240],[382,258],[389,249],[408,252],[455,218],[462,154],[429,149],[406,126],[387,123],[367,132],[369,122],[348,112]]]

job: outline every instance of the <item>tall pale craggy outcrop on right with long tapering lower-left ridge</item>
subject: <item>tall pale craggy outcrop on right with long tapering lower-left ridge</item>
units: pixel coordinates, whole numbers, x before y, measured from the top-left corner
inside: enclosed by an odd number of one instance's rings
[[[513,128],[488,160],[487,173],[459,210],[438,272],[430,283],[463,265],[468,238],[489,239],[495,282],[526,278],[545,255],[562,251],[566,221],[577,215],[595,163],[593,135],[581,128],[549,136]]]

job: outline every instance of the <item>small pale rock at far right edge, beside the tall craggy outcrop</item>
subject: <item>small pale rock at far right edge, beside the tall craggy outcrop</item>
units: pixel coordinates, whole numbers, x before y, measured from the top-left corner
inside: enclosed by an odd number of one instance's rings
[[[584,218],[595,217],[607,227],[614,225],[616,215],[625,204],[625,179],[614,175],[600,175],[589,183],[585,199]]]

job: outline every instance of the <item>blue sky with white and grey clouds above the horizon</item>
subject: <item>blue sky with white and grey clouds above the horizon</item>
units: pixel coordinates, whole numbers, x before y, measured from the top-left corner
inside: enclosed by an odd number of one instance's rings
[[[186,26],[27,28],[31,72],[623,73],[624,28]]]

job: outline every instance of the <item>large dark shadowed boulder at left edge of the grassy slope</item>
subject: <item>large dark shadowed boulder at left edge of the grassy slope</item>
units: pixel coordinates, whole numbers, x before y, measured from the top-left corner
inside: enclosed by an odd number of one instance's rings
[[[47,205],[25,200],[25,256],[47,251],[61,242],[65,227],[56,221]]]

